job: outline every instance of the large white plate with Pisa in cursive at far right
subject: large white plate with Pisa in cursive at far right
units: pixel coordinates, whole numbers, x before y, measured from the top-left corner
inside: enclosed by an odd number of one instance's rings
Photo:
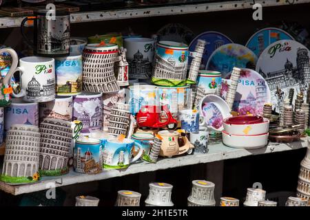
[[[271,103],[278,111],[278,105],[285,100],[289,89],[294,98],[300,89],[307,89],[310,83],[309,50],[301,43],[291,40],[277,41],[269,45],[260,55],[256,72],[267,81],[271,91]],[[276,96],[277,87],[282,96]]]

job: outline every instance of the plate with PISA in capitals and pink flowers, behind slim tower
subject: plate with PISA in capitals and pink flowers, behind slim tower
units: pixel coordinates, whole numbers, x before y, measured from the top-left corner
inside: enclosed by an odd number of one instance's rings
[[[230,74],[226,76],[230,78]],[[227,83],[222,83],[220,95],[225,99]],[[264,104],[271,102],[271,93],[266,80],[253,69],[241,69],[232,111],[239,115],[262,115]]]

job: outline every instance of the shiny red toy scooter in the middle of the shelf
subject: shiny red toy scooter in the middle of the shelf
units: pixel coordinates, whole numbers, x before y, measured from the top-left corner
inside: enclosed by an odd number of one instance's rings
[[[163,112],[166,115],[167,120],[161,122],[161,107],[156,105],[143,105],[136,114],[136,122],[139,127],[149,128],[162,128],[167,126],[168,129],[176,129],[178,121],[172,117],[172,113],[169,111],[167,105],[164,105]],[[173,124],[173,127],[171,126]]]

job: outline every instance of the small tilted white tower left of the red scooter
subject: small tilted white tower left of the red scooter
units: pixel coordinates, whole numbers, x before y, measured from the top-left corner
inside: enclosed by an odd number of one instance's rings
[[[107,132],[112,135],[126,135],[130,125],[130,105],[115,103],[111,109]]]

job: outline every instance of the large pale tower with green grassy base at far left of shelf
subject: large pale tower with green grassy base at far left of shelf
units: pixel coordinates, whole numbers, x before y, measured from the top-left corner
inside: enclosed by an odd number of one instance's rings
[[[40,133],[38,126],[13,124],[6,137],[1,181],[23,184],[39,179]]]

